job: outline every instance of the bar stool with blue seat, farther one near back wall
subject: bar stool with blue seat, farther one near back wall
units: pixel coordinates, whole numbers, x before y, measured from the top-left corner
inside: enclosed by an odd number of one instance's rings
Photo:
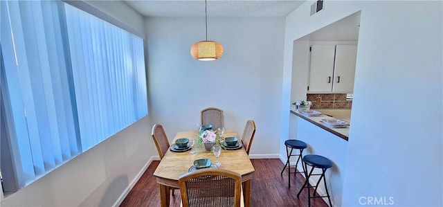
[[[286,145],[286,154],[287,154],[287,161],[286,164],[284,165],[284,168],[282,170],[282,172],[280,172],[280,175],[283,175],[284,169],[288,168],[288,182],[289,182],[289,188],[291,188],[291,173],[294,174],[294,176],[297,175],[297,173],[303,173],[305,172],[305,165],[303,165],[303,159],[302,158],[302,152],[303,150],[306,149],[307,145],[305,142],[302,141],[298,141],[295,139],[289,139],[287,141],[284,141],[284,145]],[[289,148],[291,148],[291,151],[289,151]],[[292,150],[299,150],[298,154],[292,154]],[[291,165],[289,163],[289,159],[291,158],[291,156],[298,156],[297,158],[297,162],[296,165]],[[303,172],[297,172],[297,165],[298,165],[298,161],[302,161],[302,168],[303,168]],[[291,172],[291,167],[296,167],[296,170],[294,170],[294,172]]]

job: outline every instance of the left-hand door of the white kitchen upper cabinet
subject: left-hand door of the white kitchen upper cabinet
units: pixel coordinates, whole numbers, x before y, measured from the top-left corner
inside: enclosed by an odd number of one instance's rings
[[[309,92],[330,92],[332,90],[334,53],[335,45],[311,46]]]

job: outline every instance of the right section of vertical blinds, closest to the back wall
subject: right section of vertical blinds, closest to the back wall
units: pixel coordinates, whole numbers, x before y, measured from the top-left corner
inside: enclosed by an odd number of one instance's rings
[[[65,5],[82,149],[147,114],[143,39]]]

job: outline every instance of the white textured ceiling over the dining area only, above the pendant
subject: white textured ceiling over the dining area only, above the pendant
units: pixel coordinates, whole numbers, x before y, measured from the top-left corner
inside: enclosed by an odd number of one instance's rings
[[[204,17],[202,0],[123,0],[145,17]],[[208,17],[286,17],[305,1],[209,0]]]

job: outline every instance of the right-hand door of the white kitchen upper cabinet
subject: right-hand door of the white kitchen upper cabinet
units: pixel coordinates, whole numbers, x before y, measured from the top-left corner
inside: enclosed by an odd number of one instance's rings
[[[354,91],[356,54],[356,45],[336,46],[333,92]]]

